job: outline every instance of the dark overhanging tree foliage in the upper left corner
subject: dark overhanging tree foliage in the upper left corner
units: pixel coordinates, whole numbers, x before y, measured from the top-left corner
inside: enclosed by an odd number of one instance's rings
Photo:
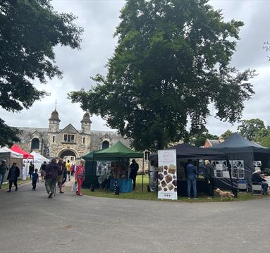
[[[0,106],[7,111],[29,109],[46,92],[33,80],[46,82],[61,70],[54,47],[80,47],[82,28],[71,13],[54,11],[49,0],[0,1]],[[18,130],[0,118],[0,146],[18,142]]]

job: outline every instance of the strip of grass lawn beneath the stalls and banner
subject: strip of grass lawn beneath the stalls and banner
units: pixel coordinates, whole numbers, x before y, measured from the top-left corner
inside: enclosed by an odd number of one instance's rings
[[[157,199],[157,192],[147,192],[147,185],[148,185],[148,175],[146,175],[144,178],[144,188],[142,192],[142,175],[137,175],[136,180],[136,190],[133,192],[125,192],[120,193],[119,195],[113,195],[113,192],[110,190],[105,190],[104,192],[102,190],[95,189],[94,192],[90,192],[90,189],[82,189],[82,194],[95,196],[95,197],[110,197],[110,198],[116,198],[116,199],[147,199],[147,200],[157,200],[157,201],[166,201],[166,202],[172,202],[172,200],[169,199]],[[199,195],[197,200],[195,199],[188,199],[188,197],[182,197],[178,196],[177,202],[221,202],[221,198],[219,195],[216,195],[214,199],[207,199],[207,195]],[[262,199],[264,197],[268,197],[267,195],[263,196],[257,196],[252,195],[251,192],[249,193],[240,193],[238,194],[237,198],[233,198],[232,201],[243,201],[243,200],[250,200],[250,199]],[[228,202],[228,198],[223,198],[223,202]]]

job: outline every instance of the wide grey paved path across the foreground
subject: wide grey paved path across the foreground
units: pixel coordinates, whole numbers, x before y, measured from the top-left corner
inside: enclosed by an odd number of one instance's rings
[[[0,252],[269,252],[270,198],[173,203],[0,192]]]

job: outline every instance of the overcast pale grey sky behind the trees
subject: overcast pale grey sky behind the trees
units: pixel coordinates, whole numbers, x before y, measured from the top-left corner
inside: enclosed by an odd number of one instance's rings
[[[180,1],[180,0],[179,0]],[[270,1],[240,1],[213,0],[211,5],[223,10],[225,20],[242,20],[245,25],[240,32],[240,41],[232,65],[239,69],[254,68],[257,77],[252,80],[254,92],[252,99],[245,102],[243,118],[261,118],[265,125],[270,125],[270,51],[263,49],[263,44],[270,41],[269,9]],[[113,54],[116,39],[113,32],[119,23],[119,11],[125,4],[122,0],[54,0],[52,4],[56,11],[72,12],[78,16],[78,25],[84,27],[82,49],[72,50],[68,47],[57,47],[56,64],[63,70],[61,80],[54,78],[47,85],[37,83],[40,90],[50,92],[49,97],[37,101],[29,110],[20,113],[10,113],[0,109],[1,118],[8,125],[21,127],[47,128],[48,118],[54,110],[57,99],[57,111],[61,119],[60,127],[72,123],[80,129],[83,111],[78,104],[72,104],[67,99],[67,93],[92,85],[90,76],[106,74],[104,68],[108,58]],[[214,113],[214,109],[211,109]],[[209,132],[221,135],[227,129],[236,130],[237,124],[223,123],[214,117],[207,119]],[[99,117],[92,117],[92,130],[109,130],[106,123]]]

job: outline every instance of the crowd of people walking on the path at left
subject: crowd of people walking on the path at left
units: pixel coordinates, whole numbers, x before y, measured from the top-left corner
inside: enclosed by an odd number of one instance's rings
[[[23,166],[24,167],[24,166]],[[12,185],[15,186],[15,191],[18,191],[18,178],[20,177],[20,169],[17,166],[17,163],[13,163],[11,168],[8,168],[6,165],[6,160],[1,160],[0,165],[0,189],[4,182],[4,178],[6,172],[8,171],[8,192],[11,192]],[[37,187],[37,183],[39,183],[39,173],[44,182],[45,188],[48,193],[48,197],[52,198],[56,192],[56,183],[59,186],[59,193],[63,194],[63,185],[66,181],[70,181],[70,176],[74,175],[75,177],[75,185],[76,185],[76,195],[82,196],[82,182],[85,179],[85,161],[80,160],[78,166],[75,164],[71,165],[70,161],[63,161],[63,159],[59,158],[58,161],[56,159],[51,159],[49,163],[44,161],[42,166],[40,166],[39,171],[35,168],[34,164],[30,162],[29,166],[29,176],[32,180],[32,190],[35,191]]]

